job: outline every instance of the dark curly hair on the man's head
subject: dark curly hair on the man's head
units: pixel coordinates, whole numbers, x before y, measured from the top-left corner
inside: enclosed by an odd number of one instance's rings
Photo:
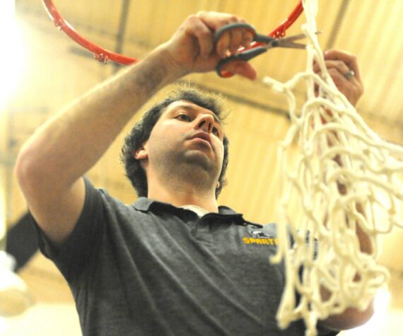
[[[171,92],[165,100],[157,103],[150,110],[146,111],[141,117],[141,120],[136,122],[132,130],[124,139],[120,156],[121,161],[124,164],[124,169],[126,170],[126,176],[129,178],[139,197],[147,197],[148,185],[146,172],[141,166],[140,161],[134,158],[134,153],[142,144],[144,144],[145,141],[148,140],[154,125],[158,122],[158,119],[163,114],[165,108],[179,100],[186,100],[190,103],[199,105],[202,108],[211,110],[211,112],[214,112],[221,122],[226,117],[223,115],[223,103],[221,97],[214,95],[213,93],[201,91],[198,88],[178,88]],[[218,178],[219,185],[216,187],[216,198],[218,198],[221,190],[226,185],[225,175],[228,166],[228,144],[228,138],[224,136],[223,166]]]

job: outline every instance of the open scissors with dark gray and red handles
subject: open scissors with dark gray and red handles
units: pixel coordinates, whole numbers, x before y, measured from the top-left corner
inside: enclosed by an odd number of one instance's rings
[[[304,38],[305,37],[304,34],[292,35],[284,38],[274,38],[269,37],[267,35],[258,34],[255,28],[253,28],[253,26],[248,23],[230,23],[229,25],[224,25],[223,27],[221,27],[216,31],[214,35],[214,44],[216,45],[216,43],[220,39],[221,35],[223,35],[223,33],[226,33],[228,30],[233,30],[237,28],[250,30],[250,32],[252,32],[253,34],[252,40],[254,42],[259,43],[255,47],[251,47],[250,49],[243,50],[238,54],[234,54],[230,57],[221,59],[221,61],[218,62],[216,66],[216,72],[218,76],[223,78],[233,76],[233,74],[231,74],[229,71],[223,69],[223,67],[226,66],[226,64],[228,64],[229,62],[233,62],[236,60],[249,61],[250,59],[257,57],[259,54],[263,54],[264,52],[267,52],[267,50],[276,47],[295,48],[295,49],[305,49],[306,47],[306,45],[303,45],[302,43],[294,42],[296,40]]]

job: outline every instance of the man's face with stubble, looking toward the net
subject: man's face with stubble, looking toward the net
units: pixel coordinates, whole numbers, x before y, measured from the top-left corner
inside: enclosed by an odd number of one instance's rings
[[[223,127],[214,112],[180,100],[170,104],[144,144],[153,168],[204,170],[216,181],[223,164]],[[182,170],[184,172],[185,170]],[[190,170],[192,171],[192,170]]]

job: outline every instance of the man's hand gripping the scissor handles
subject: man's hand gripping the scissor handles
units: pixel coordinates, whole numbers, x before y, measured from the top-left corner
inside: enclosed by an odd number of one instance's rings
[[[252,33],[243,28],[223,33],[214,45],[216,30],[238,22],[245,23],[245,20],[226,13],[201,11],[189,16],[173,37],[161,46],[172,71],[177,71],[178,76],[212,71],[221,59],[235,54],[240,47],[250,47]],[[255,69],[247,62],[231,62],[226,70],[249,79],[256,78]]]

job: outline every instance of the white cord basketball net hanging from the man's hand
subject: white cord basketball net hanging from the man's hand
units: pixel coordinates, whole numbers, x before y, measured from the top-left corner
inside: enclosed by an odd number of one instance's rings
[[[282,243],[271,260],[284,260],[286,267],[277,320],[286,328],[303,318],[305,335],[314,336],[318,320],[348,307],[365,310],[389,278],[387,269],[377,263],[378,236],[402,227],[398,205],[403,186],[398,174],[403,173],[403,161],[399,161],[403,149],[380,139],[337,90],[315,34],[317,0],[304,0],[303,7],[302,29],[308,39],[305,72],[286,83],[269,77],[264,83],[286,96],[291,118],[279,147],[284,171],[278,228]],[[313,71],[314,60],[320,75]],[[307,99],[298,107],[293,89],[301,84]],[[298,153],[291,162],[287,156],[295,141]],[[339,191],[340,185],[344,192]],[[370,253],[361,252],[357,230],[368,236]],[[322,297],[323,289],[329,297]]]

